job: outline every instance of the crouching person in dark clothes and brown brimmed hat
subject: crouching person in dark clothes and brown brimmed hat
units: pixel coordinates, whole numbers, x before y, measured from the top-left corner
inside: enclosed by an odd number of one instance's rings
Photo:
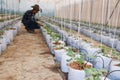
[[[32,10],[26,11],[22,18],[22,23],[25,25],[25,29],[29,33],[34,33],[35,29],[40,29],[40,26],[35,19],[35,14],[38,13],[38,11],[42,12],[42,9],[40,9],[37,4],[32,6],[32,8]]]

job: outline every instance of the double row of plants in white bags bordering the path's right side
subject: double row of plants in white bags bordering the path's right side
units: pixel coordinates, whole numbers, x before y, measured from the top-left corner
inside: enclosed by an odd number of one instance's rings
[[[45,23],[49,25],[49,26],[46,26],[47,28],[48,27],[49,28],[48,29],[46,29],[46,27],[42,28],[42,33],[51,50],[51,53],[55,54],[56,61],[61,63],[61,70],[65,73],[68,73],[68,80],[104,80],[104,79],[101,79],[104,76],[103,73],[106,71],[108,73],[109,71],[111,71],[111,69],[105,68],[106,65],[104,67],[103,66],[99,67],[99,65],[103,65],[101,61],[101,57],[103,58],[103,61],[106,61],[106,58],[108,57],[103,56],[102,53],[93,54],[98,50],[95,51],[94,48],[92,48],[89,44],[85,43],[84,41],[81,41],[81,39],[79,40],[74,39],[72,41],[73,39],[71,38],[72,36],[68,35],[65,31],[60,30],[60,28],[58,28],[53,24],[50,24],[47,22]],[[59,39],[58,37],[56,38],[57,42],[61,42],[59,44],[57,43],[57,45],[51,41],[52,36],[50,36],[51,34],[55,34],[55,33],[57,35],[59,34]],[[76,40],[77,40],[76,46],[79,46],[76,48],[78,49],[71,48],[70,46],[75,47],[75,45],[73,44]],[[65,44],[69,46],[66,46]],[[80,44],[81,46],[77,44]],[[90,49],[92,49],[93,52]],[[108,59],[111,60],[111,58],[108,58]],[[107,67],[109,66],[110,65],[107,65]],[[115,66],[115,65],[111,64],[111,66]],[[115,74],[112,74],[112,76],[114,75]],[[117,75],[117,78],[120,79],[118,75]],[[109,79],[106,78],[106,80],[109,80]]]

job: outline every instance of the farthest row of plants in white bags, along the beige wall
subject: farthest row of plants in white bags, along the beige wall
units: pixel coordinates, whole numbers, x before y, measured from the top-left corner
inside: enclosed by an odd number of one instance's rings
[[[60,20],[56,20],[56,19],[52,19],[52,18],[51,18],[51,20],[61,24]],[[71,29],[73,29],[73,30],[76,30],[76,31],[78,30],[79,22],[71,21],[72,24],[69,24],[69,23],[70,23],[70,21],[69,22],[65,21],[65,22],[63,22],[63,25],[66,26],[67,28],[71,27]],[[95,25],[92,25],[92,24],[86,24],[84,22],[80,22],[80,25],[81,25],[81,29],[85,29],[88,32],[90,32],[89,29],[91,29],[92,33],[101,35],[101,27],[100,26],[102,26],[102,25],[95,26]],[[114,27],[114,28],[116,28],[116,27]],[[120,40],[120,30],[119,29],[114,29],[114,28],[113,29],[111,27],[110,28],[105,28],[103,26],[102,35]]]

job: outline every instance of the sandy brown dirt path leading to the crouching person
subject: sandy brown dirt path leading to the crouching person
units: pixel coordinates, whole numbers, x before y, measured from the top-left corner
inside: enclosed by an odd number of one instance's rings
[[[42,34],[21,28],[0,56],[0,80],[62,80]]]

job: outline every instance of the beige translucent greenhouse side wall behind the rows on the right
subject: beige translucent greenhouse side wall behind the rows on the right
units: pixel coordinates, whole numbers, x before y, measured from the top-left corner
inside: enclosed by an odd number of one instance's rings
[[[108,22],[109,25],[117,25],[120,27],[120,9],[118,7],[120,4],[115,8],[117,2],[118,0],[87,0],[82,4],[81,2],[74,0],[73,4],[70,5],[66,5],[66,3],[58,3],[56,4],[56,17],[73,20],[80,19],[85,22],[92,21],[93,23],[99,24],[106,24]],[[81,4],[83,6],[81,6]],[[63,6],[59,7],[59,5]],[[113,10],[113,15],[110,18]]]

